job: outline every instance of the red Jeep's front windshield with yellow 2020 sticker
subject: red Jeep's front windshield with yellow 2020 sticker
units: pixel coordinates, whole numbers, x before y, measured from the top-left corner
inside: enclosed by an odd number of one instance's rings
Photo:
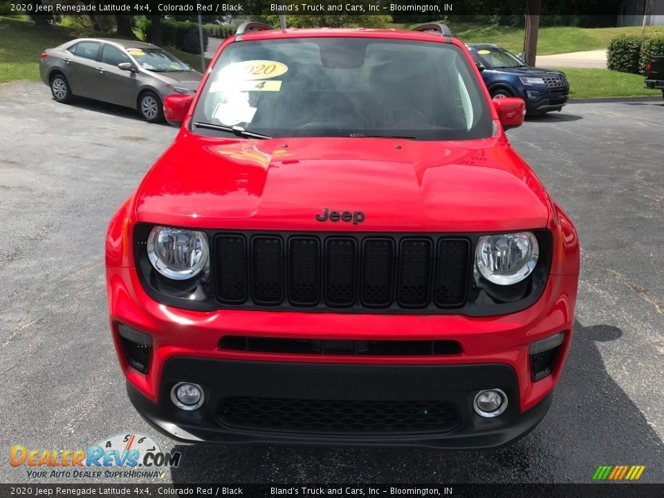
[[[376,38],[234,43],[212,68],[193,122],[270,137],[468,140],[492,134],[488,104],[457,46]]]

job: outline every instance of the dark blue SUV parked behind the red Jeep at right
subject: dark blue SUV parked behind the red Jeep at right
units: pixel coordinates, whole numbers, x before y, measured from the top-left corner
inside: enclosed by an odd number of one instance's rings
[[[530,115],[560,111],[567,103],[569,82],[565,73],[526,66],[519,57],[496,45],[466,46],[492,98],[521,97]]]

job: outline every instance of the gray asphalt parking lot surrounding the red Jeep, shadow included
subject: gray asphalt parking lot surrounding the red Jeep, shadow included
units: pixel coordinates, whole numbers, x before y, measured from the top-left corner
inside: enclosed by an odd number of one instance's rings
[[[582,243],[575,340],[551,412],[489,452],[182,445],[131,407],[107,323],[104,234],[176,129],[46,86],[0,85],[0,481],[11,445],[87,448],[138,432],[182,463],[166,481],[664,482],[664,102],[571,104],[508,132]],[[55,479],[53,480],[55,481]],[[78,482],[89,482],[79,479]],[[44,482],[44,481],[40,481]]]

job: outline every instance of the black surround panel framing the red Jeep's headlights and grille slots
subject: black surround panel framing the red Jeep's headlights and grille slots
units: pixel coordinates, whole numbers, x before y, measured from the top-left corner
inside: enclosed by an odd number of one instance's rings
[[[145,289],[145,292],[155,301],[167,304],[168,306],[173,306],[174,308],[182,308],[193,311],[216,311],[222,309],[250,309],[250,310],[262,310],[262,311],[290,311],[294,313],[365,313],[365,314],[401,314],[401,315],[416,315],[416,314],[432,314],[432,315],[445,315],[445,314],[459,314],[467,315],[473,317],[479,316],[496,316],[496,315],[506,315],[509,313],[516,313],[517,311],[522,311],[530,306],[533,306],[537,299],[540,299],[544,288],[546,287],[546,282],[548,282],[549,272],[551,270],[551,255],[553,251],[553,236],[551,232],[546,229],[531,229],[524,228],[519,230],[520,232],[532,231],[537,237],[537,241],[540,243],[540,261],[538,261],[537,266],[531,276],[528,277],[524,282],[516,284],[516,286],[506,286],[504,289],[501,289],[500,286],[495,286],[486,281],[480,282],[480,285],[477,286],[474,283],[473,279],[473,265],[474,265],[474,253],[477,246],[477,239],[481,235],[485,235],[488,232],[445,232],[445,233],[436,233],[436,232],[288,232],[285,230],[209,230],[201,229],[198,230],[205,232],[208,236],[208,243],[210,244],[210,251],[214,250],[214,239],[217,235],[241,235],[245,238],[246,241],[250,241],[251,237],[254,235],[275,235],[282,237],[285,245],[284,247],[288,248],[290,243],[288,241],[291,237],[304,237],[304,236],[314,236],[317,237],[320,241],[320,248],[323,247],[323,244],[326,240],[334,237],[355,237],[356,240],[362,242],[363,239],[369,237],[390,237],[394,239],[396,247],[400,246],[400,242],[403,239],[408,239],[411,237],[416,238],[429,238],[433,241],[434,250],[436,250],[437,241],[441,238],[444,239],[467,239],[470,241],[470,257],[468,257],[468,279],[467,279],[467,289],[466,296],[467,299],[465,304],[462,306],[450,306],[450,307],[439,307],[434,303],[434,299],[430,299],[429,304],[421,308],[403,308],[398,306],[396,299],[387,308],[365,308],[361,306],[359,302],[359,282],[360,275],[356,279],[358,282],[358,289],[356,289],[356,302],[353,306],[347,307],[331,307],[328,304],[323,302],[324,293],[320,293],[321,300],[319,303],[314,306],[293,306],[288,302],[287,299],[281,304],[270,305],[270,306],[261,306],[255,304],[251,301],[251,295],[249,293],[248,299],[242,304],[225,304],[219,302],[215,297],[215,289],[212,280],[214,275],[216,275],[215,268],[215,258],[214,255],[210,255],[210,281],[201,282],[201,287],[207,289],[208,297],[205,299],[190,299],[189,297],[176,297],[175,295],[169,295],[163,292],[160,292],[156,288],[155,283],[163,282],[165,279],[159,275],[154,268],[152,268],[149,260],[147,259],[147,248],[146,241],[149,235],[149,232],[154,224],[147,223],[138,223],[134,231],[134,257],[136,268],[138,269],[138,277],[142,284],[142,287]],[[186,228],[186,227],[183,227]],[[513,231],[510,231],[513,232]],[[492,232],[492,233],[501,233],[501,232]],[[356,250],[359,250],[361,245],[358,246]],[[285,255],[285,260],[287,261],[288,255]],[[322,268],[322,267],[321,267]],[[435,259],[432,260],[432,265],[430,272],[432,273],[430,279],[430,293],[432,292],[432,283],[434,278],[434,270],[436,268]],[[359,271],[359,270],[356,270]],[[324,278],[324,271],[321,272],[321,278]],[[287,275],[286,275],[287,277]],[[197,277],[198,278],[198,277]],[[182,285],[187,285],[190,287],[196,287],[196,279],[193,279],[194,282],[185,281],[181,283]],[[288,286],[288,279],[286,279],[286,286]],[[169,282],[163,284],[165,288],[168,288]],[[323,284],[320,286],[323,289]],[[506,299],[501,300],[495,297],[496,292],[504,291],[506,293]],[[513,300],[513,297],[510,297],[507,293],[511,291],[517,291],[516,293],[525,293],[525,297],[521,299]],[[396,293],[396,286],[394,288]]]

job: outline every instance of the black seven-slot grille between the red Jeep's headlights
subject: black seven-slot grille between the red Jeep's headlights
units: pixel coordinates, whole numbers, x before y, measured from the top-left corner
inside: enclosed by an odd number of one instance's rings
[[[425,310],[465,304],[470,241],[380,234],[218,234],[216,299],[230,306]]]

